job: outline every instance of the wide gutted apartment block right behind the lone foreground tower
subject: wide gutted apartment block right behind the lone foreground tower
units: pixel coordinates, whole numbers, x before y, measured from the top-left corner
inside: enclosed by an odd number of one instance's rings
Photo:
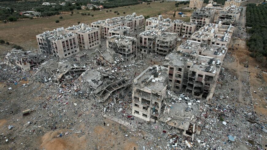
[[[213,96],[222,62],[197,52],[174,52],[166,57],[169,84],[173,91],[185,91],[196,98]]]

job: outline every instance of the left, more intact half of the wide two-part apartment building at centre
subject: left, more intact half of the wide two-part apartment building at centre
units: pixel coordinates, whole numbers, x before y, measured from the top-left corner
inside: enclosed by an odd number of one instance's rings
[[[157,37],[157,31],[146,30],[139,34],[139,51],[141,53],[154,52],[155,39]]]

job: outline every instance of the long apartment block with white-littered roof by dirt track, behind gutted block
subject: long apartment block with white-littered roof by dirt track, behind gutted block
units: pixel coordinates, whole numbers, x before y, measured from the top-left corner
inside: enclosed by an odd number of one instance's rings
[[[219,24],[206,24],[199,31],[195,32],[191,39],[202,44],[228,47],[233,32],[234,26],[222,25],[222,21],[219,21]]]

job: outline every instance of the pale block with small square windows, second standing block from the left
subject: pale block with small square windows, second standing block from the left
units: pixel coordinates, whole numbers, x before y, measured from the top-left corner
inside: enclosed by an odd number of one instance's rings
[[[59,59],[70,57],[80,51],[77,34],[67,33],[63,27],[57,28],[56,36],[49,40],[53,55]]]

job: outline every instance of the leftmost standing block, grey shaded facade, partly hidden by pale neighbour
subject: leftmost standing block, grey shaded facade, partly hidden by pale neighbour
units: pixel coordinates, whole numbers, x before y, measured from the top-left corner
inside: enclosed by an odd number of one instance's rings
[[[51,54],[51,45],[50,45],[50,38],[53,37],[55,34],[54,31],[45,31],[36,36],[37,42],[40,48],[40,51],[43,54],[50,55]]]

